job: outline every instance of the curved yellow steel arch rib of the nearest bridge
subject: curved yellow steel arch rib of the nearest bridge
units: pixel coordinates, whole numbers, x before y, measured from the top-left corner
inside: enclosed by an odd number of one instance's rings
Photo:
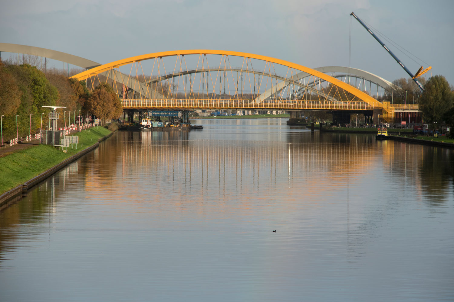
[[[192,49],[192,50],[175,50],[175,51],[165,51],[165,52],[159,52],[159,53],[148,53],[148,54],[143,54],[140,56],[125,58],[125,59],[118,60],[115,62],[110,62],[110,63],[104,64],[104,65],[101,65],[98,67],[94,67],[87,71],[76,74],[72,78],[76,78],[78,80],[85,80],[89,77],[96,76],[101,72],[105,72],[112,68],[117,68],[117,67],[120,67],[120,66],[123,66],[126,64],[130,64],[133,62],[140,62],[143,60],[149,60],[149,59],[153,59],[153,58],[163,58],[163,57],[171,57],[171,56],[177,56],[177,55],[195,55],[195,54],[199,54],[199,55],[200,54],[214,54],[214,55],[235,56],[235,57],[242,57],[242,58],[252,58],[252,59],[280,64],[282,66],[286,66],[289,68],[294,68],[296,70],[306,72],[315,77],[319,77],[327,82],[330,82],[331,84],[333,84],[337,87],[340,87],[340,88],[344,89],[345,91],[350,92],[352,95],[358,97],[360,100],[364,101],[365,103],[369,104],[370,106],[372,106],[374,108],[383,108],[383,104],[380,103],[379,101],[375,100],[373,97],[360,91],[359,89],[355,88],[354,86],[344,83],[343,81],[340,81],[334,77],[330,77],[323,72],[319,72],[319,71],[316,71],[309,67],[305,67],[305,66],[302,66],[302,65],[299,65],[296,63],[292,63],[292,62],[277,59],[277,58],[266,57],[266,56],[253,54],[253,53],[242,53],[242,52],[226,51],[226,50]]]

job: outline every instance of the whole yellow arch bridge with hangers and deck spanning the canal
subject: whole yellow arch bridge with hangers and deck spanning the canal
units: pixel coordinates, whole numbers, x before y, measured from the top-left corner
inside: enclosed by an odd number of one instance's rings
[[[126,76],[125,76],[126,75]],[[327,110],[394,119],[390,102],[323,72],[252,53],[180,50],[100,65],[73,78],[108,82],[129,110]]]

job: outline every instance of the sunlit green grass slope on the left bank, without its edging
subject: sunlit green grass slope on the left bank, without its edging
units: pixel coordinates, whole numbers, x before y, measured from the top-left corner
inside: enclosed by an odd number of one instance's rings
[[[96,144],[111,131],[104,127],[93,127],[69,135],[79,136],[78,149],[68,147],[63,153],[61,147],[34,145],[0,158],[0,194],[19,186],[31,178],[61,163],[66,158]],[[66,147],[64,148],[66,150]]]

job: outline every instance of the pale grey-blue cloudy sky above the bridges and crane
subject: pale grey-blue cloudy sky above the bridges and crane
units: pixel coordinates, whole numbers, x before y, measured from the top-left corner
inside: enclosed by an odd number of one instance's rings
[[[311,68],[348,66],[351,11],[419,58],[414,62],[385,42],[411,72],[429,64],[432,75],[454,85],[452,0],[11,0],[0,4],[0,42],[99,63],[221,49]],[[409,77],[355,19],[350,65],[389,81]]]

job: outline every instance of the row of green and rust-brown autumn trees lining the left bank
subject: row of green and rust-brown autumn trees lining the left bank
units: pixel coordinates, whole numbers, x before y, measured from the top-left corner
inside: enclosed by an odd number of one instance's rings
[[[12,64],[0,61],[0,115],[3,124],[3,139],[9,141],[32,133],[48,125],[49,108],[64,106],[64,111],[81,112],[86,117],[94,115],[102,121],[117,118],[121,114],[121,102],[108,84],[99,84],[90,92],[84,81],[69,79],[55,69],[46,74],[36,66]],[[30,115],[31,114],[31,115]],[[16,124],[17,118],[17,124]],[[61,125],[62,121],[59,121]]]

